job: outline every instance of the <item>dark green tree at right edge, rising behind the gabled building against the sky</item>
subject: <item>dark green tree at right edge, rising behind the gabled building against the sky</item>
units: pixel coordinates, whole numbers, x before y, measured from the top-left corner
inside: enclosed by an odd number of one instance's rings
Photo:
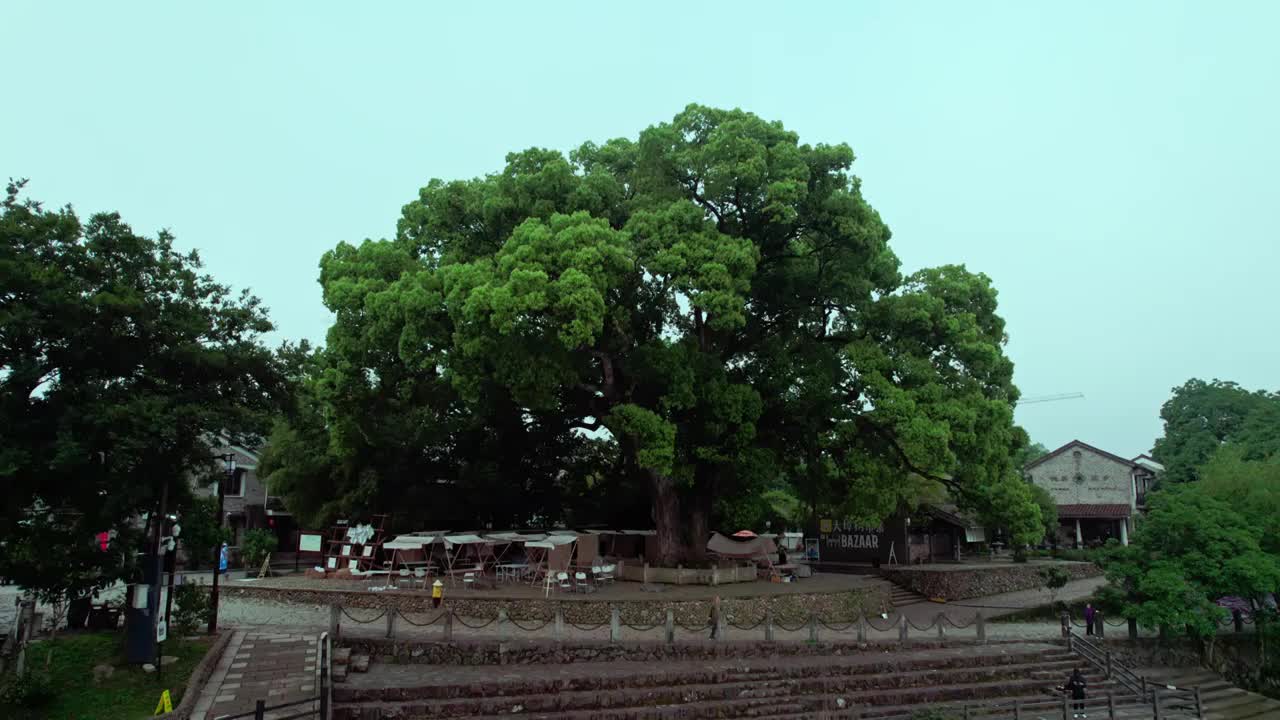
[[[1233,382],[1187,380],[1160,409],[1165,434],[1152,457],[1165,466],[1164,479],[1199,479],[1199,468],[1222,446],[1236,446],[1244,460],[1280,452],[1280,393],[1247,391]]]

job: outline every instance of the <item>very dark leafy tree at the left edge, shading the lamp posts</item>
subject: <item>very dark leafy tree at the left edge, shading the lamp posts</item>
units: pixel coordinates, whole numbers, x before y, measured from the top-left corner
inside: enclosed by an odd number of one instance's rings
[[[168,233],[82,223],[20,190],[0,206],[0,574],[82,594],[131,570],[134,520],[165,486],[183,505],[214,433],[261,432],[284,386],[255,297]]]

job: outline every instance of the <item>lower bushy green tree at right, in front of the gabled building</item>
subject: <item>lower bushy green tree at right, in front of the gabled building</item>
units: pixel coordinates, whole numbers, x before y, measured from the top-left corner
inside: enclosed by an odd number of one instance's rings
[[[1207,637],[1226,612],[1217,598],[1261,607],[1280,587],[1280,561],[1262,551],[1262,530],[1198,484],[1152,495],[1129,547],[1112,548],[1107,577],[1126,593],[1126,618],[1149,628],[1189,628]]]

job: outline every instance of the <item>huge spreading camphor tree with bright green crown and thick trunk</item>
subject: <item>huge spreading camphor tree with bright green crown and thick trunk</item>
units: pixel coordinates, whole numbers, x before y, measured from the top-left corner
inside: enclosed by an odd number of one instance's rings
[[[612,436],[657,562],[701,556],[717,503],[780,477],[810,512],[877,523],[941,484],[1036,534],[996,291],[959,265],[904,274],[852,161],[691,105],[634,141],[431,181],[394,240],[321,261],[330,445],[380,432],[384,402],[404,447],[472,442],[515,483]]]

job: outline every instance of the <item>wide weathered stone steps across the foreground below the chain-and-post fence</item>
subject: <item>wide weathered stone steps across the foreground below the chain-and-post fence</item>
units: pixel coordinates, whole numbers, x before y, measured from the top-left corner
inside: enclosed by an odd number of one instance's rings
[[[566,720],[863,717],[897,720],[927,706],[1014,701],[1052,712],[1080,660],[1051,643],[993,643],[908,651],[850,647],[842,655],[673,657],[527,665],[374,662],[334,687],[335,720],[521,715]],[[1137,698],[1087,673],[1092,697],[1114,693],[1117,717],[1151,717]],[[1056,705],[1060,707],[1060,705]],[[1128,714],[1133,710],[1133,714]],[[1061,715],[1059,710],[1057,716]],[[1021,717],[1039,715],[1023,711]],[[1106,716],[1100,714],[1096,716]]]

